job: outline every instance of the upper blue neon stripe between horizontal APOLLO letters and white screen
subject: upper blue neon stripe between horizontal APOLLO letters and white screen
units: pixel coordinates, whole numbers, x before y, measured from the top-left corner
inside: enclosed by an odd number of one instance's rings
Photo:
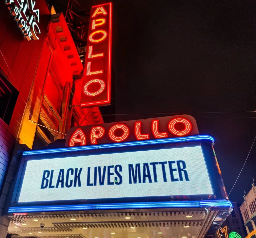
[[[202,140],[214,142],[214,139],[210,135],[192,135],[187,137],[167,138],[167,139],[157,139],[157,140],[147,140],[147,141],[131,141],[131,142],[113,143],[113,144],[67,147],[67,148],[60,148],[60,149],[24,151],[23,155],[63,153],[63,152],[71,152],[71,151],[74,152],[74,151],[96,150],[96,149],[106,149],[106,148],[118,148],[118,147],[136,146],[136,145],[196,142],[196,141],[202,141]]]

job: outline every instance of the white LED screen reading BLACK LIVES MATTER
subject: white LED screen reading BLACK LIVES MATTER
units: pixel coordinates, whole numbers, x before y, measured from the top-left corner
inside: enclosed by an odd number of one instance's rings
[[[18,202],[213,194],[201,146],[27,161]]]

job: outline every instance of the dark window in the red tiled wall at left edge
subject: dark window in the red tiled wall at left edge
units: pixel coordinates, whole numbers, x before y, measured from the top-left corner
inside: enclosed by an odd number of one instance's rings
[[[0,74],[0,118],[8,125],[13,115],[18,94],[18,90]]]

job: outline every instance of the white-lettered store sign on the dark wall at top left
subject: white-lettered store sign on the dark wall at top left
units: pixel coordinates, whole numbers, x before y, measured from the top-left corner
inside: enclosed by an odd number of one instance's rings
[[[33,0],[8,0],[8,9],[15,16],[21,31],[27,40],[38,40],[41,33],[39,29],[39,9],[35,8]]]

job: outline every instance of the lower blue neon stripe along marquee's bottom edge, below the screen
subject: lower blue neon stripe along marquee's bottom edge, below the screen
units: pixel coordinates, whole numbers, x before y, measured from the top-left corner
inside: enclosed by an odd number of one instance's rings
[[[142,208],[195,208],[195,207],[230,207],[232,203],[227,200],[205,201],[170,201],[170,202],[132,202],[132,203],[101,203],[81,205],[52,205],[10,207],[8,213],[19,212],[47,212],[47,211],[78,211],[78,210],[104,210],[104,209],[142,209]]]

